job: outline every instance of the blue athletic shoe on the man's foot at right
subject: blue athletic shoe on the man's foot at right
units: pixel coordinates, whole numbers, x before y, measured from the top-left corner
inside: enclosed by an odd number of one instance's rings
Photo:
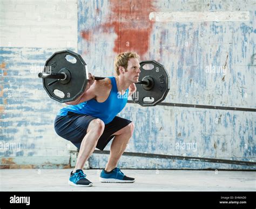
[[[99,181],[102,183],[133,183],[134,178],[126,177],[119,168],[114,168],[110,172],[106,172],[104,169],[100,173]]]

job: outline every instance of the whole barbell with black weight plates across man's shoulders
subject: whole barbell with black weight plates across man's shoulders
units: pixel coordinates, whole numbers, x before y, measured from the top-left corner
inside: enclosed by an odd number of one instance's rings
[[[155,60],[140,62],[140,78],[132,95],[134,102],[142,106],[155,106],[162,102],[170,90],[169,75],[164,66]],[[46,60],[42,78],[50,98],[60,103],[76,100],[86,88],[87,65],[83,58],[70,50],[58,51]],[[95,80],[105,77],[95,77]]]

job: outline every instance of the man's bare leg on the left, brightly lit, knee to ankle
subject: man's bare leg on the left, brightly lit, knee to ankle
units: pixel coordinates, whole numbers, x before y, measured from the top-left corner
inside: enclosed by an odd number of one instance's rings
[[[85,161],[91,156],[92,152],[95,150],[97,141],[104,131],[104,127],[104,122],[100,119],[94,119],[90,122],[87,128],[87,133],[81,143],[76,166],[73,170],[73,173],[75,173],[78,169],[83,170]]]

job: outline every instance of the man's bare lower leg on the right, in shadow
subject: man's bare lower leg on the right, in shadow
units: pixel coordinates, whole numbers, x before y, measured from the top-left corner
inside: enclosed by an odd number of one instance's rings
[[[129,143],[133,130],[134,124],[130,123],[123,127],[123,129],[113,133],[113,135],[116,136],[114,137],[110,147],[109,161],[107,161],[105,171],[109,172],[113,170],[113,168],[117,167],[118,161],[124,153],[127,144]]]

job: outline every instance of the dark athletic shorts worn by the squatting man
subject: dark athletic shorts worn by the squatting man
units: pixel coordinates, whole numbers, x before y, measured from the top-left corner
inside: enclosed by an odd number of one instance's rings
[[[68,112],[66,116],[56,116],[54,122],[55,131],[60,137],[71,141],[79,150],[82,140],[86,135],[87,127],[94,119],[97,118],[86,114]],[[96,147],[99,150],[104,150],[107,143],[114,137],[112,134],[130,123],[130,120],[118,116],[114,117],[110,123],[105,125],[103,134],[100,136]]]

